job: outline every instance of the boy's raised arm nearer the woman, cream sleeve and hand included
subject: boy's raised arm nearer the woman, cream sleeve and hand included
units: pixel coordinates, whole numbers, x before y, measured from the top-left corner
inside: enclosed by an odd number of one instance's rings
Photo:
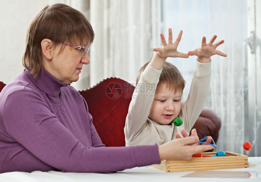
[[[178,44],[181,40],[182,31],[179,32],[174,42],[172,42],[171,29],[168,29],[168,43],[165,41],[163,33],[161,33],[160,36],[162,45],[159,48],[153,49],[153,51],[155,51],[155,54],[151,62],[149,63],[150,65],[147,66],[139,80],[139,84],[144,84],[145,90],[147,86],[145,84],[154,84],[154,88],[156,89],[161,73],[161,71],[157,71],[162,69],[162,66],[167,57],[188,58],[188,54],[177,51]],[[124,127],[126,142],[131,142],[139,133],[141,133],[146,124],[147,117],[149,116],[151,104],[154,97],[143,98],[143,95],[149,95],[150,97],[152,95],[154,96],[154,93],[137,93],[137,87],[135,88]]]

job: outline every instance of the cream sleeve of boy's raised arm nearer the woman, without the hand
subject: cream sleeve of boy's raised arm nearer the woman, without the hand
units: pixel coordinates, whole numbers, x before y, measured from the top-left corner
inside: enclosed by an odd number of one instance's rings
[[[135,140],[141,132],[143,134],[149,132],[149,130],[144,130],[144,128],[150,113],[160,74],[161,70],[152,68],[150,64],[148,64],[141,74],[140,80],[134,89],[126,117],[124,127],[126,145]]]

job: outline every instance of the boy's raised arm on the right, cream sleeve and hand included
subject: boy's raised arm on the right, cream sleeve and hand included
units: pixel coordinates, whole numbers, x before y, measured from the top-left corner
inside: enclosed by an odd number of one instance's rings
[[[190,92],[184,105],[182,105],[182,115],[185,121],[188,121],[185,126],[189,132],[201,113],[210,91],[211,78],[211,56],[217,54],[226,57],[223,52],[216,50],[216,48],[224,43],[224,40],[215,42],[217,38],[214,35],[211,40],[206,43],[206,38],[202,38],[202,43],[195,50],[189,51],[188,55],[197,56],[197,62],[193,71],[193,79],[191,83]],[[214,44],[213,44],[214,43]]]

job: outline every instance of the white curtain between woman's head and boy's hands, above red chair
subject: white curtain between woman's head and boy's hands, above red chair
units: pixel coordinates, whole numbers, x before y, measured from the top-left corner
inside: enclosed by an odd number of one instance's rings
[[[108,77],[136,83],[138,70],[153,55],[152,29],[158,31],[154,25],[158,22],[158,2],[90,0],[90,23],[95,32],[89,53],[90,86]]]

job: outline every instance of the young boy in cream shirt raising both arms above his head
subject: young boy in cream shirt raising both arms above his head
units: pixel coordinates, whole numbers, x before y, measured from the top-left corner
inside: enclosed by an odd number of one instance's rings
[[[182,31],[179,32],[173,43],[171,29],[169,29],[168,43],[162,33],[160,36],[161,47],[153,49],[156,53],[151,62],[146,63],[137,76],[137,86],[124,127],[126,146],[154,143],[162,145],[175,138],[180,138],[179,133],[186,136],[184,133],[189,133],[191,130],[209,95],[211,56],[215,54],[227,56],[216,50],[219,45],[224,43],[224,40],[221,40],[213,44],[216,35],[208,44],[206,38],[203,37],[202,44],[194,51],[189,51],[188,54],[177,51]],[[165,60],[167,57],[188,58],[193,55],[197,56],[197,61],[190,93],[186,102],[181,105],[185,80],[178,69]],[[173,121],[176,118],[183,120],[181,126],[174,125]]]

